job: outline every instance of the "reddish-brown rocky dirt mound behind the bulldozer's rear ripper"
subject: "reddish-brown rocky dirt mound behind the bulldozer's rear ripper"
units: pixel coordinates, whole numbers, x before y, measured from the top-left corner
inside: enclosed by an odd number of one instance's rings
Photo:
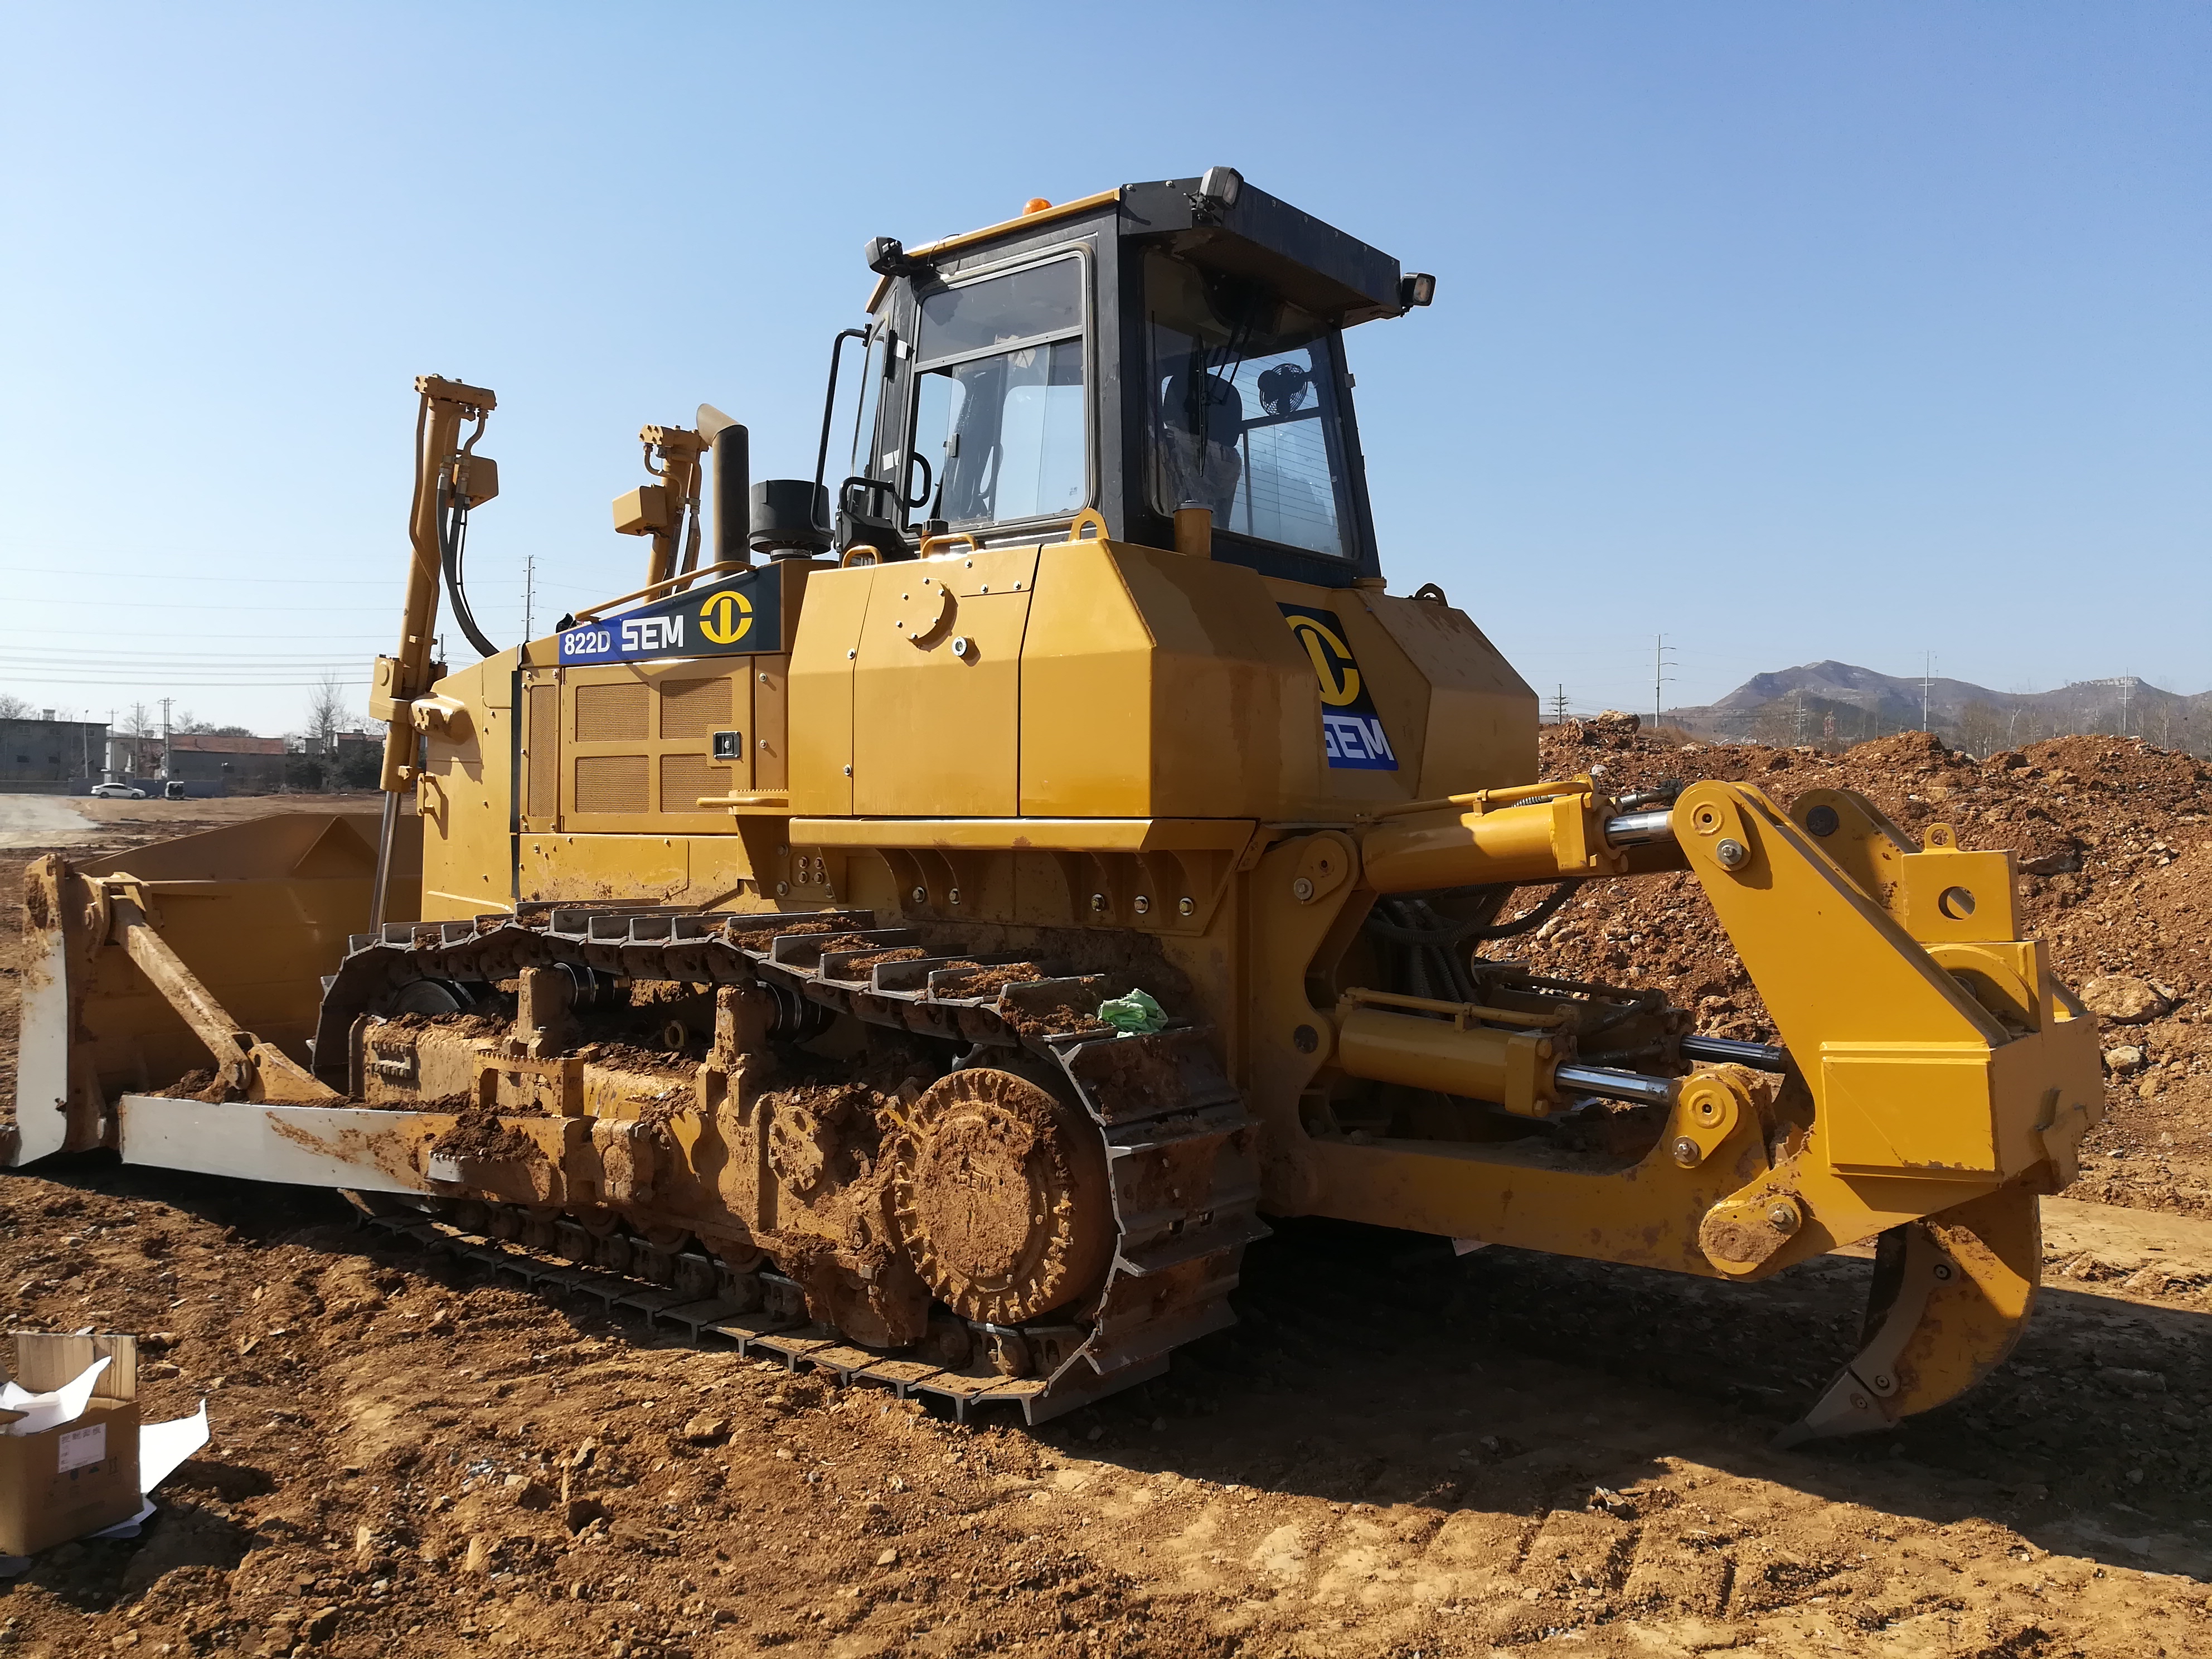
[[[2020,909],[2059,975],[2150,987],[2152,1018],[2106,1024],[2108,1117],[2077,1197],[2212,1214],[2212,768],[2112,737],[2057,737],[1975,761],[1927,732],[1840,754],[1677,743],[1595,723],[1546,728],[1544,774],[1590,772],[1613,794],[1697,779],[1756,783],[1776,805],[1856,790],[1902,830],[1949,823],[1962,847],[2020,854]],[[1533,894],[1520,896],[1526,909]],[[1723,1037],[1772,1040],[1765,1004],[1697,878],[1590,883],[1528,938],[1493,945],[1544,973],[1657,984]],[[2126,1051],[2139,1051],[2132,1057]]]

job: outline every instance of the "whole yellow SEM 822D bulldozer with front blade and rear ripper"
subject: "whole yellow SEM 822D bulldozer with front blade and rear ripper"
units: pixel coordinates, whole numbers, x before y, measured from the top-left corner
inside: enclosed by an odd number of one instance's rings
[[[1033,1422],[1232,1323],[1263,1217],[1725,1281],[1874,1239],[1798,1438],[2004,1358],[2101,1110],[2013,856],[1537,779],[1535,695],[1369,515],[1345,332],[1431,276],[1232,168],[867,263],[816,476],[646,427],[644,586],[504,650],[493,394],[418,380],[383,814],[33,865],[11,1161],[338,1188]],[[1513,960],[1679,869],[1778,1044]]]

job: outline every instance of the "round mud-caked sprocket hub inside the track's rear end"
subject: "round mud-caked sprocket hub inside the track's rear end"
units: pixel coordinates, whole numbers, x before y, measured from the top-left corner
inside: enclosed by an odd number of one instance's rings
[[[971,1066],[922,1091],[896,1139],[891,1201],[929,1292],[987,1325],[1088,1296],[1113,1261],[1097,1130],[1011,1071]]]

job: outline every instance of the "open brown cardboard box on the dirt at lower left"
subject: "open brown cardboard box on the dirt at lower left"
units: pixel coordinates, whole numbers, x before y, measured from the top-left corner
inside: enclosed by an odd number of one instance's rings
[[[9,1332],[9,1374],[31,1394],[73,1383],[113,1360],[77,1418],[44,1433],[7,1433],[22,1411],[0,1411],[0,1555],[38,1555],[131,1520],[139,1509],[137,1340]]]

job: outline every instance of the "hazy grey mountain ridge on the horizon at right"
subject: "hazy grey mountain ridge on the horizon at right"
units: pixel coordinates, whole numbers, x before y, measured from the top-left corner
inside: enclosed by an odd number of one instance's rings
[[[1858,743],[1929,728],[1978,754],[2064,732],[2115,732],[2205,752],[2212,748],[2212,692],[2181,697],[2135,675],[2048,692],[2000,692],[1964,679],[1922,686],[1918,677],[1816,661],[1752,675],[1717,703],[1670,708],[1663,723],[1697,737],[1761,743]]]

